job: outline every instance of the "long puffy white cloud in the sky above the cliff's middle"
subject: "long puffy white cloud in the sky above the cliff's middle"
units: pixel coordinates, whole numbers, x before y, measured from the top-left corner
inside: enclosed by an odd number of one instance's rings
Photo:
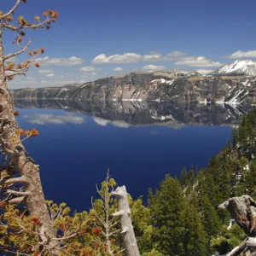
[[[92,64],[101,63],[134,63],[140,61],[142,55],[137,55],[136,53],[125,53],[123,55],[110,55],[105,54],[97,55],[92,61]]]

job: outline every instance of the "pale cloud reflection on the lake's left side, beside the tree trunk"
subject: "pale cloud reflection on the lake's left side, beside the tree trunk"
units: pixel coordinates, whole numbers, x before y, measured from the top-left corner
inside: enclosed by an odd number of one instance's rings
[[[26,119],[27,122],[37,125],[65,125],[69,123],[80,125],[85,121],[84,116],[75,116],[73,114],[54,115],[50,113],[35,113],[32,115],[25,115],[23,118]]]

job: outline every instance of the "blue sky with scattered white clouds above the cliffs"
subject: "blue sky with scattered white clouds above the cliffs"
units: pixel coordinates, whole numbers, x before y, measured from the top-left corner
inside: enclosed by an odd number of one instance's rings
[[[15,0],[2,2],[6,11]],[[134,70],[180,67],[205,73],[238,58],[256,58],[255,0],[27,0],[15,17],[33,20],[47,9],[59,13],[58,21],[49,31],[25,37],[33,38],[31,49],[44,47],[42,67],[32,67],[10,88],[82,83]],[[14,38],[5,33],[6,54],[17,50]]]

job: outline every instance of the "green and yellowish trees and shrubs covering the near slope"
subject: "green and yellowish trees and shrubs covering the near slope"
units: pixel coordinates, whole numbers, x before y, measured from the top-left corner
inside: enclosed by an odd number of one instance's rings
[[[230,213],[218,206],[232,196],[256,197],[255,143],[256,109],[243,117],[232,142],[212,157],[207,168],[196,173],[193,168],[184,169],[179,180],[166,175],[157,189],[148,190],[147,206],[143,198],[132,200],[130,196],[140,253],[199,256],[225,254],[236,247],[246,234],[237,224],[228,229]],[[3,178],[13,175],[11,166],[2,169]],[[119,216],[113,216],[118,211],[111,194],[115,187],[108,176],[89,212],[71,214],[65,203],[57,206],[46,201],[61,244],[59,255],[124,255]],[[40,221],[28,213],[26,207],[2,202],[0,249],[48,255],[36,231]]]

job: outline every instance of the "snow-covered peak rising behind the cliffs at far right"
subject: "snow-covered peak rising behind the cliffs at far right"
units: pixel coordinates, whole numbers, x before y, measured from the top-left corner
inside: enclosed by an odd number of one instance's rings
[[[252,60],[237,60],[231,62],[230,64],[219,67],[216,71],[211,73],[215,76],[220,75],[246,75],[255,76],[256,75],[256,62]]]

